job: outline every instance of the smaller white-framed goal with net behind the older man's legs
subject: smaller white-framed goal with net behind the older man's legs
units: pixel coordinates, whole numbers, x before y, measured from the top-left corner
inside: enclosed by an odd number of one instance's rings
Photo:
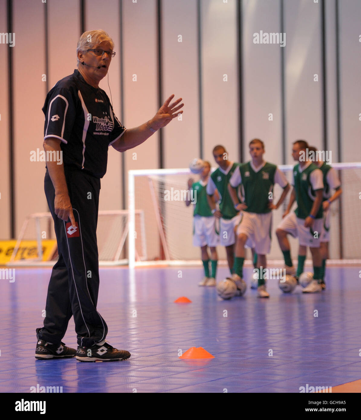
[[[147,260],[144,211],[133,212],[135,220],[136,260]],[[128,210],[99,210],[97,243],[99,265],[128,264],[126,259],[126,237],[128,235]],[[24,253],[26,247],[30,253]],[[24,257],[26,255],[26,257]],[[54,265],[58,259],[54,222],[51,213],[34,213],[23,223],[13,249],[11,265]]]

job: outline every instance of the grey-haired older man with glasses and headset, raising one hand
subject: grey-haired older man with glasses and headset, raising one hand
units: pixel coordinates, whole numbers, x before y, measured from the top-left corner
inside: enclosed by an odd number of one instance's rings
[[[107,344],[107,324],[97,312],[99,267],[97,217],[100,178],[107,169],[108,147],[125,152],[172,121],[183,107],[171,95],[154,117],[126,129],[115,116],[99,81],[107,74],[114,42],[102,31],[81,35],[78,69],[58,81],[44,107],[44,150],[61,151],[63,164],[47,162],[44,189],[54,219],[58,262],[48,286],[44,326],[37,328],[37,359],[74,357],[84,362],[124,360],[126,350]],[[179,111],[179,112],[178,112]],[[62,342],[74,317],[78,349]]]

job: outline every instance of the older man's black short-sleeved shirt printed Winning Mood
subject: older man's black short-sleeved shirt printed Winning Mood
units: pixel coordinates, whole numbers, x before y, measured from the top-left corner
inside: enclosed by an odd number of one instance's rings
[[[50,89],[42,111],[44,139],[61,140],[64,168],[75,167],[102,178],[108,147],[126,130],[105,91],[87,84],[76,69]]]

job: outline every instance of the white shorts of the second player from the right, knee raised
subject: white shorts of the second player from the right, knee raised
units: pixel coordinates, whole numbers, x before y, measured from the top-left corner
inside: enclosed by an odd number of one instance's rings
[[[312,228],[306,228],[304,224],[305,219],[296,217],[296,213],[293,211],[281,220],[277,229],[288,232],[294,238],[298,237],[300,245],[304,247],[319,248],[321,243],[322,219],[315,219]],[[318,235],[316,235],[316,232],[318,232]]]

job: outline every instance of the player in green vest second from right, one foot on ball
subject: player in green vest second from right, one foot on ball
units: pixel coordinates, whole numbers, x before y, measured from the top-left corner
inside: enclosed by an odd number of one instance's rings
[[[320,236],[322,231],[322,171],[306,157],[308,144],[304,140],[293,143],[292,156],[298,162],[293,168],[293,190],[283,220],[278,225],[276,235],[283,252],[287,274],[295,274],[290,257],[290,243],[287,235],[298,237],[301,249],[299,250],[298,265],[304,262],[302,247],[309,247],[314,265],[314,280],[303,289],[305,293],[314,293],[322,290],[321,287],[321,252]],[[290,213],[293,203],[297,208]],[[301,255],[300,255],[301,254]],[[300,269],[299,269],[300,270]],[[299,272],[298,270],[298,272]]]

